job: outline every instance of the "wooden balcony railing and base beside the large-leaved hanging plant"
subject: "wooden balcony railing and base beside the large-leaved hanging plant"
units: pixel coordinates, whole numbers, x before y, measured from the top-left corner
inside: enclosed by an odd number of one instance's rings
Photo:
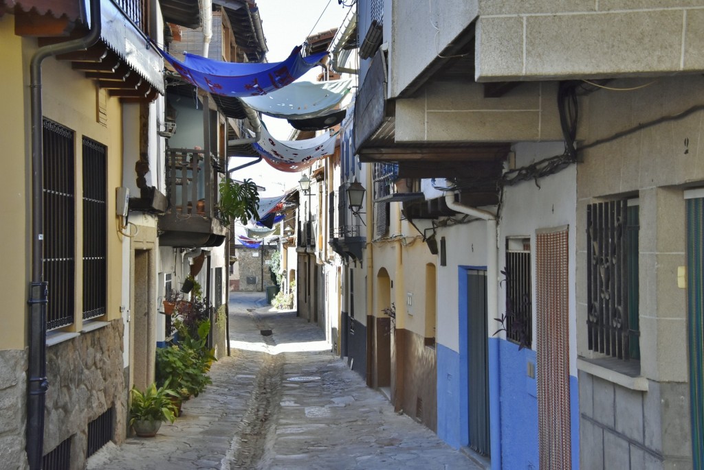
[[[203,150],[166,151],[168,208],[159,217],[159,241],[167,247],[217,247],[227,227],[218,218],[218,162]]]

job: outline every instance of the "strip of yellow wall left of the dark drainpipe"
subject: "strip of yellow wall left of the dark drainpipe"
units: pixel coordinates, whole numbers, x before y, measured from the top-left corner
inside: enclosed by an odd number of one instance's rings
[[[25,83],[28,69],[23,65],[22,45],[27,41],[15,36],[14,16],[0,18],[0,77],[2,102],[0,105],[0,201],[4,227],[0,230],[0,285],[6,293],[0,308],[0,349],[25,347],[27,313],[27,282],[30,257],[24,249],[30,234],[30,216],[27,211],[29,195],[26,185],[30,172],[27,168],[29,138],[25,136],[25,103],[29,95]],[[27,78],[25,79],[25,75]],[[27,108],[28,110],[29,108]],[[25,152],[26,149],[26,152]]]

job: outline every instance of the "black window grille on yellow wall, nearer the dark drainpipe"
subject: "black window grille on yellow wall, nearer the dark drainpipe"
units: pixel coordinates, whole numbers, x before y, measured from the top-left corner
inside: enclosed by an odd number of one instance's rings
[[[73,131],[44,119],[44,280],[46,328],[73,323],[75,309],[75,152]]]

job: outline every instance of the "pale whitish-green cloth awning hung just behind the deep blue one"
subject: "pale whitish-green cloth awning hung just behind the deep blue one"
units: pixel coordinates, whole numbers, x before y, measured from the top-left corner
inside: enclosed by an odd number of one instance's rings
[[[351,79],[296,81],[266,96],[249,96],[242,101],[271,117],[308,119],[332,112],[351,89]]]

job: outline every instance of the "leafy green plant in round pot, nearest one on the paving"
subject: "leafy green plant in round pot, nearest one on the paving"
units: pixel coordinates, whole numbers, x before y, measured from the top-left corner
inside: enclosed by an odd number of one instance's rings
[[[161,422],[174,422],[176,419],[176,406],[172,397],[178,393],[168,388],[167,380],[163,386],[157,388],[156,384],[149,385],[145,391],[132,387],[130,397],[130,426],[139,437],[153,437],[161,427]]]

